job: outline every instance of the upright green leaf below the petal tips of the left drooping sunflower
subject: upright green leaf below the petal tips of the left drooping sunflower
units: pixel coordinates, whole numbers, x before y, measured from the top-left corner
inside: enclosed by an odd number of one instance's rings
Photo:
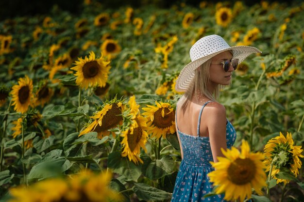
[[[78,135],[78,132],[69,134],[66,140],[63,142],[63,149],[67,157],[81,154],[82,144],[73,144],[73,142],[78,139]]]

